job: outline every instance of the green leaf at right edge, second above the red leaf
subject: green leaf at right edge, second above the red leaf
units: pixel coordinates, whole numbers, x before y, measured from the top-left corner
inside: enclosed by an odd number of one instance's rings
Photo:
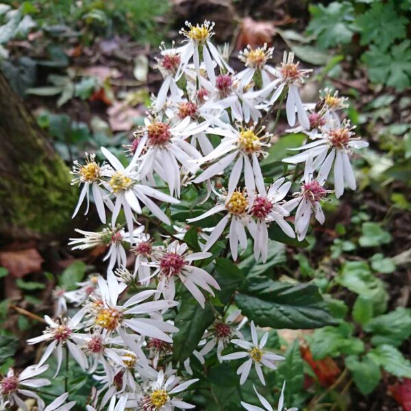
[[[364,331],[373,335],[373,345],[390,344],[398,347],[411,336],[411,309],[397,307],[388,314],[376,316],[366,323]]]

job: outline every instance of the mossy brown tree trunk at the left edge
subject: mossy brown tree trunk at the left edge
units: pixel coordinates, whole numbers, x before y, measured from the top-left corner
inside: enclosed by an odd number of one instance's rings
[[[0,236],[56,237],[70,225],[69,169],[0,73]]]

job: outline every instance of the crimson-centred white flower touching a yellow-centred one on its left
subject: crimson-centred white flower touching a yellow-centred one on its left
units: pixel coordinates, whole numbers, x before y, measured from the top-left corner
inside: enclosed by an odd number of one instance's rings
[[[277,179],[271,186],[259,192],[250,208],[253,220],[248,225],[249,232],[254,239],[254,256],[258,260],[261,256],[262,262],[266,262],[268,253],[269,232],[267,226],[277,223],[282,231],[289,237],[295,238],[295,232],[284,217],[290,215],[279,201],[286,197],[290,190],[291,182],[285,183],[285,178]]]

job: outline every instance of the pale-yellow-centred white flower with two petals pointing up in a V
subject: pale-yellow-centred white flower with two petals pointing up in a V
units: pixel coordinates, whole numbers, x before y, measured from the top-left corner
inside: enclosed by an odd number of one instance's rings
[[[179,203],[179,200],[164,194],[152,187],[140,184],[140,178],[136,171],[136,161],[139,158],[144,144],[139,145],[130,164],[124,168],[123,164],[108,149],[101,147],[101,152],[114,167],[109,182],[105,183],[107,188],[116,197],[112,214],[112,225],[116,224],[121,208],[124,210],[125,220],[129,234],[133,233],[133,213],[142,214],[140,203],[144,204],[160,221],[170,224],[169,217],[149,197],[164,201],[166,203]]]

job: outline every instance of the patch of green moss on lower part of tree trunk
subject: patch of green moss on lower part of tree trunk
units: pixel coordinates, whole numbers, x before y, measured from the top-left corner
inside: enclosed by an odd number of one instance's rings
[[[9,190],[11,222],[39,234],[62,232],[77,199],[67,166],[55,156],[21,164],[18,171],[21,181]]]

